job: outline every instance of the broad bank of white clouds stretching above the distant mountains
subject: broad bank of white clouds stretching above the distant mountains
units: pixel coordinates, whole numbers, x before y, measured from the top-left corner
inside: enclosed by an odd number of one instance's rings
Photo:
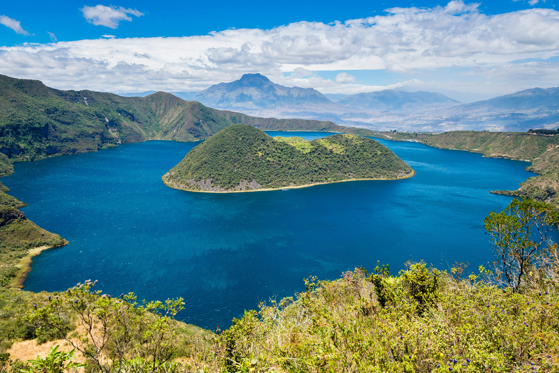
[[[126,19],[122,17],[130,18],[127,14],[141,15],[116,7],[88,8],[108,8],[120,14],[117,18],[98,16],[105,26],[116,27],[119,20]],[[200,36],[110,37],[4,46],[0,47],[0,74],[39,79],[60,89],[141,92],[201,90],[259,72],[283,85],[335,93],[366,88],[355,84],[347,73],[331,80],[312,71],[386,69],[421,74],[452,67],[468,69],[476,76],[471,85],[460,87],[489,92],[505,89],[505,85],[479,83],[488,76],[507,79],[506,89],[524,87],[526,79],[509,73],[513,67],[541,72],[539,80],[547,79],[548,87],[559,85],[555,65],[512,66],[513,61],[546,60],[556,55],[558,11],[530,8],[485,15],[477,4],[454,0],[444,7],[391,8],[386,15],[331,24],[301,21],[269,30],[240,28]],[[505,68],[509,65],[512,67]],[[284,72],[291,74],[284,76]],[[459,89],[456,82],[444,84]]]

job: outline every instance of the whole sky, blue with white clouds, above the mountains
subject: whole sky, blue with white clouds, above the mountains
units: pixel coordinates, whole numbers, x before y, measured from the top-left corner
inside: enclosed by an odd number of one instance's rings
[[[483,99],[559,85],[557,1],[4,2],[0,74],[126,93],[261,73],[322,93]]]

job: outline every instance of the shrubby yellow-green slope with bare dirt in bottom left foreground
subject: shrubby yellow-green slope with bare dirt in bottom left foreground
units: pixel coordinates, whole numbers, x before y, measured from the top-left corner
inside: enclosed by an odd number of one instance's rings
[[[49,355],[48,347],[42,362],[17,360],[19,344],[30,339],[38,345],[54,342],[58,352],[75,348],[74,358],[86,372],[171,373],[190,370],[212,355],[214,333],[175,320],[181,299],[139,304],[133,293],[112,298],[92,285],[86,281],[61,293],[1,288],[0,370],[72,371],[60,361],[63,356]]]

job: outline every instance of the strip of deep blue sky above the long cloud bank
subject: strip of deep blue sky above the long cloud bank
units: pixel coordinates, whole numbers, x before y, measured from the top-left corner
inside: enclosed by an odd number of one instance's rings
[[[466,2],[474,3],[474,2]],[[557,1],[547,0],[530,6],[526,1],[484,1],[479,9],[489,15],[518,11],[530,7],[554,8]],[[111,3],[102,3],[110,6]],[[94,26],[83,17],[83,6],[96,6],[87,1],[6,1],[0,14],[21,22],[24,30],[35,35],[18,35],[0,27],[0,44],[16,45],[23,42],[50,42],[48,32],[60,41],[97,39],[111,34],[117,37],[192,36],[210,31],[235,28],[273,28],[298,21],[329,23],[382,15],[393,7],[444,6],[438,1],[122,1],[119,7],[136,9],[143,16],[131,16],[132,21],[121,21],[116,30]]]

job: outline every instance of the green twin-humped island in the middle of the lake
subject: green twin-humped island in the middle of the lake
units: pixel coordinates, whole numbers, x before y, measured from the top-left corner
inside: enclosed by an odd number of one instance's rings
[[[178,189],[231,192],[413,175],[390,149],[366,137],[272,138],[233,125],[192,149],[163,181]]]

